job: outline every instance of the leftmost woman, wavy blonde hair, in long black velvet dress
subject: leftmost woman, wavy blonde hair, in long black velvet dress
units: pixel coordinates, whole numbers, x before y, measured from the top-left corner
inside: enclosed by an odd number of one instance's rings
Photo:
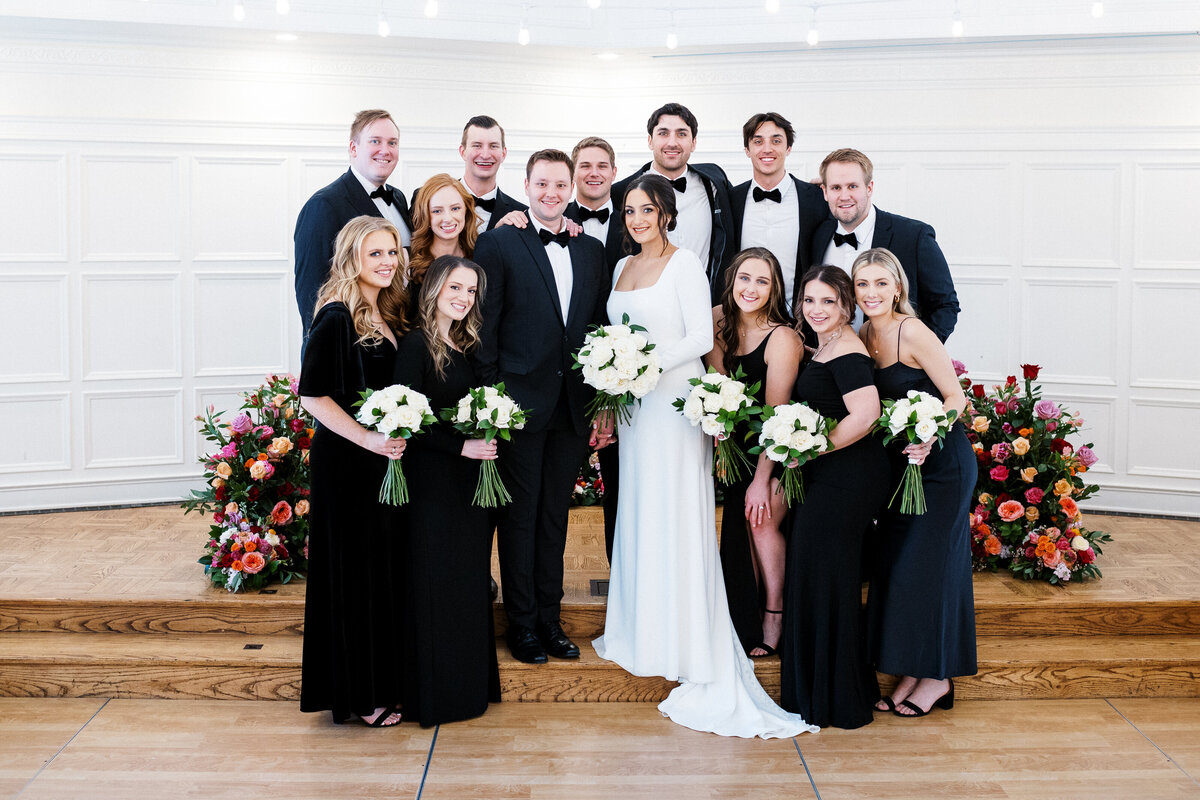
[[[398,723],[403,697],[403,539],[396,510],[378,497],[404,440],[359,425],[353,404],[392,384],[408,303],[402,264],[390,222],[346,223],[300,372],[300,401],[317,419],[300,710],[372,727]]]

